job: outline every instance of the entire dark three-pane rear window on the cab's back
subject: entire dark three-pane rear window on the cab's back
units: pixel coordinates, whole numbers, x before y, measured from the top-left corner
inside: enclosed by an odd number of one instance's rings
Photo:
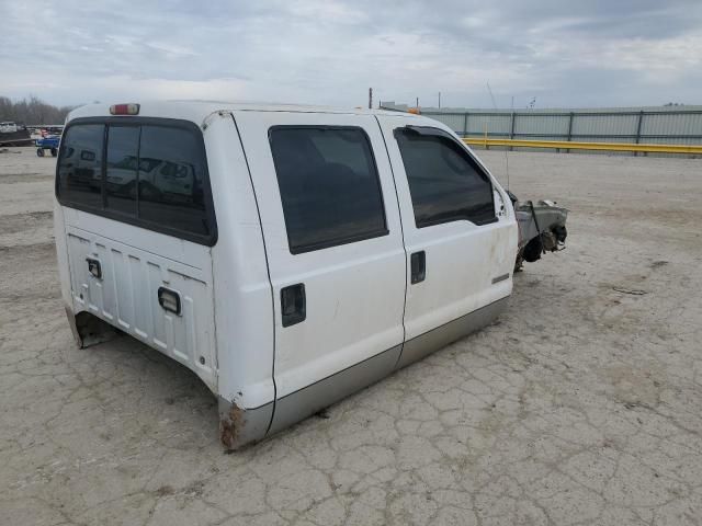
[[[71,123],[64,134],[56,178],[59,202],[214,244],[207,164],[196,126],[167,119],[93,121]]]

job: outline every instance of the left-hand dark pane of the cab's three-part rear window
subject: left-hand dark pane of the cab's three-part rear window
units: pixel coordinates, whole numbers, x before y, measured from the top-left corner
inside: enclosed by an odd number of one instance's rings
[[[102,208],[104,125],[75,126],[61,139],[58,187],[61,201]]]

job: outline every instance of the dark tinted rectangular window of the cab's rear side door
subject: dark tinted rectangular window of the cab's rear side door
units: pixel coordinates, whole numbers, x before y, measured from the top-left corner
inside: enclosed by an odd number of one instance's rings
[[[282,126],[270,138],[292,253],[387,233],[362,129]]]

